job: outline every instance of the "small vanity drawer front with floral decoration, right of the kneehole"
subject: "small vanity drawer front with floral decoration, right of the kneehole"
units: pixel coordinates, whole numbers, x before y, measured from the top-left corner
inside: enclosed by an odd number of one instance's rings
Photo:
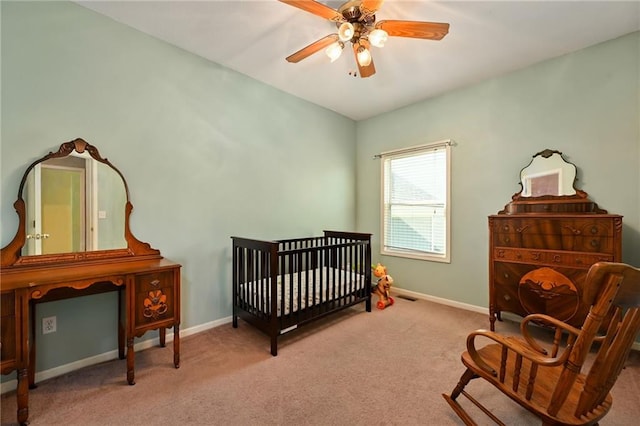
[[[135,276],[135,328],[157,328],[175,319],[176,301],[173,271]]]

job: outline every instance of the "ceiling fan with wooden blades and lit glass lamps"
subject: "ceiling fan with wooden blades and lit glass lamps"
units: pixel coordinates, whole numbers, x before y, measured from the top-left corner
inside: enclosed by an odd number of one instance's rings
[[[395,21],[376,22],[376,12],[384,0],[350,0],[338,9],[332,9],[314,0],[279,0],[293,7],[336,23],[338,32],[329,34],[287,57],[289,62],[300,62],[314,53],[326,49],[331,62],[340,57],[344,44],[351,42],[360,77],[376,73],[371,58],[371,46],[384,46],[387,37],[411,37],[441,40],[449,32],[449,24],[440,22]]]

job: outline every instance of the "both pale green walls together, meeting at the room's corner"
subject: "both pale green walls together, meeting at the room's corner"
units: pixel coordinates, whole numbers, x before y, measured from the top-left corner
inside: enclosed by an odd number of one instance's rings
[[[231,313],[229,236],[356,225],[399,286],[486,307],[487,216],[544,148],[625,216],[624,260],[640,265],[637,33],[354,123],[77,5],[0,5],[0,244],[25,167],[85,138],[127,178],[135,235],[183,264],[183,329]],[[449,138],[451,264],[381,258],[373,155]],[[59,330],[38,336],[38,370],[115,349],[115,300],[40,305]]]

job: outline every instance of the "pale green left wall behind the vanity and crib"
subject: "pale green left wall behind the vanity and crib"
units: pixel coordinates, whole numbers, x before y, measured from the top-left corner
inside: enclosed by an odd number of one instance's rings
[[[124,174],[136,237],[183,265],[183,329],[231,315],[230,236],[355,229],[352,120],[73,3],[1,12],[2,246],[26,167],[76,137]],[[115,309],[39,305],[58,332],[38,335],[38,371],[115,349]]]

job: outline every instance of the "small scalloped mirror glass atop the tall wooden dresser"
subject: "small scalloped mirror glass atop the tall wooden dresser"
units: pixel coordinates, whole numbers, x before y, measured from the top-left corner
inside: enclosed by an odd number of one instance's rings
[[[545,149],[520,172],[521,197],[575,195],[576,166],[560,151]]]

